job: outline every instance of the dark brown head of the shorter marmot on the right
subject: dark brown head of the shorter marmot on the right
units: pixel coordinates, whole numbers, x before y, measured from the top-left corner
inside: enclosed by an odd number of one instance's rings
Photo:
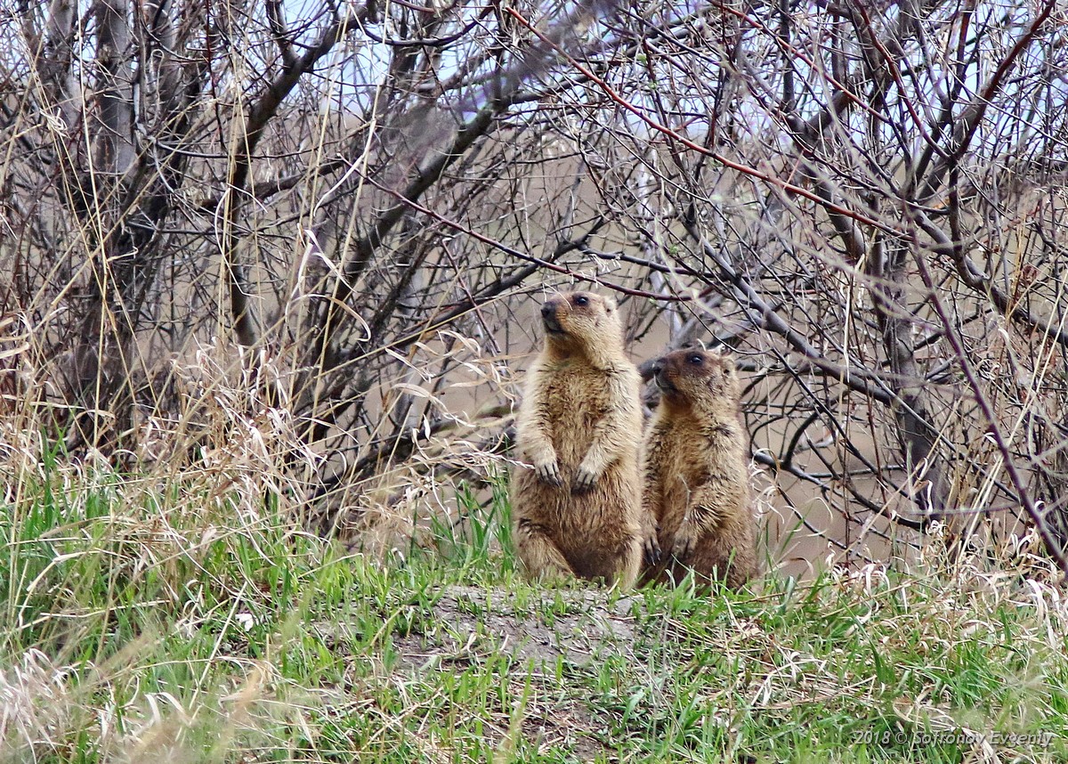
[[[741,396],[734,358],[717,353],[669,353],[653,364],[653,379],[664,400],[674,404],[704,404],[708,408],[728,402],[731,410],[736,410]]]

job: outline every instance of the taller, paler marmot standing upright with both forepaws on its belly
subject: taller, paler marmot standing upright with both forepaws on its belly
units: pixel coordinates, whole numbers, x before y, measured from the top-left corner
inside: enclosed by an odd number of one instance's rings
[[[516,420],[516,550],[532,577],[634,582],[641,567],[641,378],[615,300],[555,295]]]

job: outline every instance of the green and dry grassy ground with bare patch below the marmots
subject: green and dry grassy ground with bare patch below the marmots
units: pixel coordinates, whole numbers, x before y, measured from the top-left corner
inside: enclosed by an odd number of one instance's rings
[[[7,485],[6,761],[1068,757],[1068,613],[1040,577],[547,590],[507,552],[503,490],[461,490],[459,520],[380,563],[206,481]]]

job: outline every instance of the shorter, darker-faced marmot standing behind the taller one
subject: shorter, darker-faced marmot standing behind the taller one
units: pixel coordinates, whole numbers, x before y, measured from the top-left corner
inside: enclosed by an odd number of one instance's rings
[[[643,580],[678,581],[692,570],[737,589],[757,559],[734,359],[676,350],[654,363],[653,378],[661,396],[645,437],[643,501],[659,529]]]

